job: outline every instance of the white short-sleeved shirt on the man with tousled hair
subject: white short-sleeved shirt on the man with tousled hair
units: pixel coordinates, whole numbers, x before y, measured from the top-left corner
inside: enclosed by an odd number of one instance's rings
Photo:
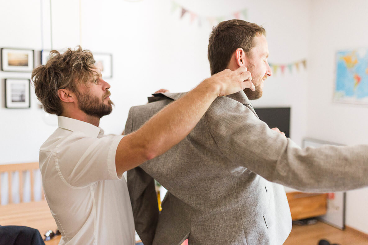
[[[60,244],[135,244],[127,183],[115,154],[123,136],[105,136],[87,122],[58,117],[40,148],[43,190],[61,232]],[[50,227],[52,228],[52,227]]]

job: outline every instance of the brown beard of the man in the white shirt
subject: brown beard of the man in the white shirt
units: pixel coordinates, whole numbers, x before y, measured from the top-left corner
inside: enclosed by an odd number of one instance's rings
[[[109,104],[105,105],[103,102],[107,96],[110,95],[110,91],[107,91],[105,95],[99,99],[97,96],[91,95],[90,92],[82,94],[77,91],[78,107],[84,113],[89,116],[101,118],[103,116],[109,115],[113,110],[114,103],[109,100]]]

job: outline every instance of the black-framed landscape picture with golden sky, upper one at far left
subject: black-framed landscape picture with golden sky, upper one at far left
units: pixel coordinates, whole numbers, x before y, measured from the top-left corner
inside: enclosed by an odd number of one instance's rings
[[[4,72],[32,72],[34,50],[1,48],[1,70]]]

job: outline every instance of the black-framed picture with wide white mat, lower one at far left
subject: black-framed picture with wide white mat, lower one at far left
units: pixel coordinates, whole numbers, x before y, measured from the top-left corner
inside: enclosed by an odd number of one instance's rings
[[[29,79],[5,79],[5,107],[31,107]]]

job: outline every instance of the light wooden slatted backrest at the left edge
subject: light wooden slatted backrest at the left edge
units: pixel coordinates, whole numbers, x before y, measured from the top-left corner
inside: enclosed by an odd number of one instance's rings
[[[19,164],[4,164],[0,165],[0,178],[2,173],[8,173],[8,204],[13,203],[12,197],[12,176],[13,172],[18,172],[19,174],[19,196],[20,202],[23,202],[23,174],[24,172],[29,172],[31,176],[31,202],[35,201],[35,195],[33,191],[33,186],[35,183],[35,179],[33,176],[33,171],[38,170],[39,165],[38,162],[28,162],[28,163],[19,163]],[[43,189],[41,187],[41,200],[45,200],[45,195],[43,194]],[[1,195],[0,195],[1,202]]]

